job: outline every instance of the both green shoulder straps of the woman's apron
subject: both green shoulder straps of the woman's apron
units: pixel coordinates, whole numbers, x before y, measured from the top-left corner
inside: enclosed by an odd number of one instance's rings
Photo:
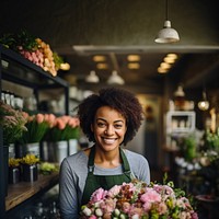
[[[120,153],[120,158],[122,158],[122,161],[123,161],[124,173],[129,174],[130,173],[130,166],[129,166],[128,160],[126,158],[126,154],[120,147],[119,147],[119,153]],[[91,148],[91,152],[89,154],[89,162],[88,162],[89,173],[93,173],[93,171],[94,171],[94,157],[95,157],[95,146],[93,146]]]

